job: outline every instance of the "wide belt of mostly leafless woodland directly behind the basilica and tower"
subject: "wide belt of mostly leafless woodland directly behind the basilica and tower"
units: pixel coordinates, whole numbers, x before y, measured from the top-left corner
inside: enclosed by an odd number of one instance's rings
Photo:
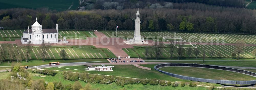
[[[52,11],[40,9],[2,9],[0,27],[5,29],[27,29],[38,18],[43,28],[68,30],[134,30],[137,9]],[[255,10],[223,7],[199,3],[174,3],[169,8],[139,9],[142,31],[174,31],[205,33],[255,34]]]

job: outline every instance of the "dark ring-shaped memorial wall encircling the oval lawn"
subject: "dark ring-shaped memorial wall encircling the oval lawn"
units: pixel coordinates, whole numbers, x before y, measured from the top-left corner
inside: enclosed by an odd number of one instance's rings
[[[189,77],[189,76],[183,76],[183,75],[178,75],[178,74],[173,74],[169,72],[165,72],[162,70],[158,70],[159,68],[162,67],[169,67],[169,66],[181,66],[181,67],[199,67],[199,68],[211,68],[211,69],[220,69],[220,70],[228,70],[228,71],[234,71],[238,73],[243,73],[251,76],[256,76],[256,73],[249,72],[249,71],[244,71],[244,70],[239,70],[239,69],[233,69],[233,68],[227,68],[227,67],[220,67],[220,66],[212,66],[212,65],[200,65],[200,64],[186,64],[186,63],[166,63],[166,64],[160,64],[156,65],[154,67],[155,70],[162,72],[164,74],[167,74],[169,76],[173,76],[179,79],[184,79],[184,80],[191,80],[191,81],[198,81],[198,82],[208,82],[208,83],[219,83],[219,84],[255,84],[256,80],[251,80],[251,81],[230,81],[230,80],[213,80],[213,79],[202,79],[202,78],[194,78],[194,77]]]

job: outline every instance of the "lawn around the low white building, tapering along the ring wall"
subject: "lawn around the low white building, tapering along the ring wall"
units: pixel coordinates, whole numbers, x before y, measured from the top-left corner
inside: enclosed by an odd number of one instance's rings
[[[93,66],[101,66],[101,65],[93,65]],[[106,66],[106,65],[105,65]],[[60,70],[60,71],[72,71],[72,72],[87,72],[92,74],[103,74],[103,75],[113,75],[113,76],[124,76],[124,77],[131,77],[131,78],[140,78],[140,79],[160,79],[160,80],[167,80],[167,81],[185,81],[190,82],[188,80],[182,80],[178,78],[174,78],[172,76],[168,76],[166,74],[163,74],[161,72],[158,72],[154,69],[155,65],[141,65],[144,67],[150,67],[152,70],[145,70],[137,68],[133,65],[111,65],[114,66],[113,71],[109,72],[99,72],[99,71],[84,71],[84,68],[87,68],[85,66],[65,66],[61,68],[44,68],[47,70]],[[64,68],[70,68],[70,69],[64,69]],[[79,70],[72,70],[72,69],[79,69]],[[212,83],[202,83],[197,82],[200,85],[215,85],[215,86],[221,86],[219,84],[212,84]]]

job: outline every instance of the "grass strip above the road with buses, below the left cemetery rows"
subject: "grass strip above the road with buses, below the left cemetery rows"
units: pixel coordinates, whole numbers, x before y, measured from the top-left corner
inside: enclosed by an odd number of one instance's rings
[[[92,62],[92,61],[107,61],[106,59],[77,59],[77,60],[45,60],[42,62],[42,60],[29,60],[26,62],[26,60],[23,60],[21,63],[22,65],[28,65],[28,66],[40,66],[40,65],[46,65],[49,64],[49,62],[56,62],[59,61],[61,63],[69,63],[69,62]],[[0,66],[11,66],[12,63],[4,62],[1,63]]]

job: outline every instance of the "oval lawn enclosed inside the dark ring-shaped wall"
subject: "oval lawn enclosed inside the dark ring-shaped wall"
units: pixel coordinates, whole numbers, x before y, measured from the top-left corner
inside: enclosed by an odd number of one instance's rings
[[[238,81],[249,81],[255,80],[256,77],[225,71],[225,70],[217,70],[217,69],[208,69],[208,68],[195,68],[195,67],[163,67],[159,70],[184,75],[191,76],[195,78],[204,78],[204,79],[215,79],[215,80],[238,80]]]

